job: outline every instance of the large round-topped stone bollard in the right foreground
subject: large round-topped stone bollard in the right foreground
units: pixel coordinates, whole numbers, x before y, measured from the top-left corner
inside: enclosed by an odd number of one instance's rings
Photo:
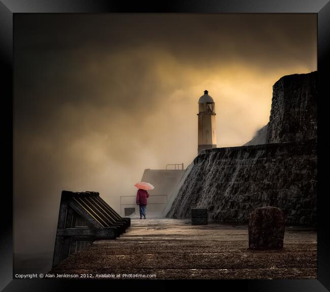
[[[283,248],[285,218],[277,207],[256,208],[249,214],[249,248]]]

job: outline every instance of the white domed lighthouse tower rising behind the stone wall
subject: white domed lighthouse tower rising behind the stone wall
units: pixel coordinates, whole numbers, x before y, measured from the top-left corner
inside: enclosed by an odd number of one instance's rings
[[[215,103],[209,91],[205,90],[204,95],[198,101],[198,154],[204,149],[216,148],[215,136]]]

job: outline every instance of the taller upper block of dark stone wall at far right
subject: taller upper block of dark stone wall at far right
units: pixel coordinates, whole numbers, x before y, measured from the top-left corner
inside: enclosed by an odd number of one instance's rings
[[[282,77],[273,86],[266,143],[317,137],[317,71]]]

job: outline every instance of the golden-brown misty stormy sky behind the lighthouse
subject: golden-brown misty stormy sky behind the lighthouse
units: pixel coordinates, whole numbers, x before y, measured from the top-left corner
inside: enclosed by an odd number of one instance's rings
[[[197,155],[197,102],[217,146],[269,120],[272,86],[317,70],[312,14],[15,16],[14,250],[52,251],[60,194],[98,191],[117,212],[146,168]]]

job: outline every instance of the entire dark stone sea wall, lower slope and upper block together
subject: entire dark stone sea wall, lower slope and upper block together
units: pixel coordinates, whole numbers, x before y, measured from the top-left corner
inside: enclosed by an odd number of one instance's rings
[[[295,74],[274,84],[268,144],[202,151],[167,217],[207,208],[210,221],[246,223],[256,207],[275,206],[287,223],[316,224],[316,77]]]

